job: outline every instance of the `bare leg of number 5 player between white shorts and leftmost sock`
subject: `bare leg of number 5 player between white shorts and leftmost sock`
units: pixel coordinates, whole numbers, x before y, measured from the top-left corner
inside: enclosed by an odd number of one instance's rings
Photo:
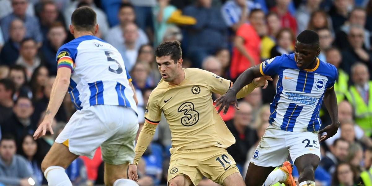
[[[41,163],[41,170],[44,173],[50,166],[66,169],[77,157],[79,156],[71,153],[64,144],[54,143]]]

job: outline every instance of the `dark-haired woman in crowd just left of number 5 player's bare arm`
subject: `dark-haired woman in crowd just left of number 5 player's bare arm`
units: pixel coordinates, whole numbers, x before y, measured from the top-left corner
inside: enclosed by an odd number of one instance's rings
[[[31,76],[30,87],[33,95],[33,100],[39,100],[44,96],[44,86],[47,83],[49,77],[48,68],[45,66],[39,66],[35,68]]]

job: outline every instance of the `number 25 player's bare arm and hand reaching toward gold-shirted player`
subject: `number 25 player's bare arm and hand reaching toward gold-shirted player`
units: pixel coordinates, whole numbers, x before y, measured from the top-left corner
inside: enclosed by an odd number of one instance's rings
[[[235,107],[237,107],[237,109],[239,109],[238,108],[238,101],[236,99],[237,93],[244,86],[246,86],[247,84],[250,84],[254,78],[261,77],[261,76],[262,76],[262,74],[260,73],[260,64],[255,65],[251,68],[248,68],[246,71],[244,71],[242,74],[240,74],[240,76],[237,78],[237,80],[232,85],[232,87],[227,91],[227,93],[225,93],[224,95],[222,95],[221,97],[219,97],[218,99],[215,100],[215,102],[216,102],[215,107],[220,105],[217,112],[219,113],[219,112],[221,112],[221,110],[223,108],[225,108],[225,110],[224,110],[224,114],[225,114],[227,112],[230,104],[234,104]]]

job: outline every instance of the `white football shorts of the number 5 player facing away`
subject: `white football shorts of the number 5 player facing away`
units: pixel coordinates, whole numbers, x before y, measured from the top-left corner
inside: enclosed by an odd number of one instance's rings
[[[101,146],[103,161],[119,165],[133,161],[138,127],[133,109],[95,105],[77,110],[55,142],[67,145],[73,154],[91,159]]]

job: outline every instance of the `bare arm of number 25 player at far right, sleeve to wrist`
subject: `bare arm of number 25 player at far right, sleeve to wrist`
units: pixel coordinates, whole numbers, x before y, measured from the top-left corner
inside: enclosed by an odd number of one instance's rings
[[[331,117],[332,124],[335,124],[338,127],[340,122],[337,109],[337,97],[333,87],[325,91],[323,102]]]

